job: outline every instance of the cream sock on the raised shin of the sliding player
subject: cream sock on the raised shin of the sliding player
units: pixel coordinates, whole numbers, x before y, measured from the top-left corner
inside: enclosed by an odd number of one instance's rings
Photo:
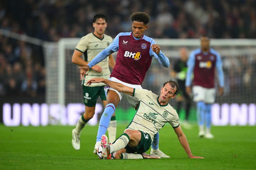
[[[116,152],[120,149],[124,149],[129,141],[130,141],[130,137],[126,133],[123,133],[123,135],[120,136],[115,141],[115,143],[113,143],[112,145],[109,145],[110,146],[110,153]]]

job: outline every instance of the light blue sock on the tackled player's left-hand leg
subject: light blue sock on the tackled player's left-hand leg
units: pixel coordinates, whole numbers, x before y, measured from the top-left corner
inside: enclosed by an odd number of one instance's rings
[[[101,141],[101,136],[107,132],[111,116],[114,114],[115,109],[116,108],[112,103],[106,105],[105,110],[101,116],[96,142]]]

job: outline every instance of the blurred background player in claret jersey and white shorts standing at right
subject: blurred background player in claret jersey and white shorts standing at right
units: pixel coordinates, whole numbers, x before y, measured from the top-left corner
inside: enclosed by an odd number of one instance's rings
[[[191,52],[186,76],[186,91],[191,93],[191,75],[193,79],[193,100],[197,102],[197,117],[200,137],[214,138],[210,132],[211,105],[215,101],[216,91],[214,88],[215,67],[219,77],[218,95],[223,94],[224,74],[222,70],[221,56],[210,48],[210,40],[207,36],[201,37],[201,48]],[[204,130],[204,123],[206,130]]]

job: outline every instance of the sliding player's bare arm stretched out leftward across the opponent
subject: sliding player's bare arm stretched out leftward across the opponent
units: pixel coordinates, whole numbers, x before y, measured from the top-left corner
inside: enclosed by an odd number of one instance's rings
[[[117,83],[117,82],[113,82],[107,79],[102,79],[102,78],[93,78],[88,80],[88,82],[86,84],[91,85],[92,83],[105,83],[106,85],[108,85],[109,87],[119,91],[119,92],[123,92],[125,94],[128,94],[130,96],[132,96],[133,94],[133,88],[128,87],[126,85],[123,85],[121,83]]]

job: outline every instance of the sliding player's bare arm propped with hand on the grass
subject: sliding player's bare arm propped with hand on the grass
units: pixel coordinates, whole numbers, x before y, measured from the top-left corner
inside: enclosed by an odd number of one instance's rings
[[[187,142],[187,138],[185,136],[185,134],[182,132],[182,129],[181,127],[176,127],[174,128],[174,131],[175,133],[177,134],[177,137],[180,141],[180,144],[182,145],[182,147],[184,148],[184,150],[186,151],[188,157],[190,158],[203,158],[203,157],[200,157],[200,156],[194,156],[192,153],[191,153],[191,150],[189,148],[189,144]]]

